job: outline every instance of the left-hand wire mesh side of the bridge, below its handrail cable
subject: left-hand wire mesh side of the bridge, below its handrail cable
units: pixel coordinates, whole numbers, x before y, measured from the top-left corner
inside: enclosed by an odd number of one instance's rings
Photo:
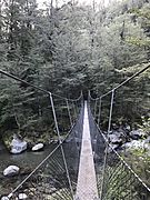
[[[60,148],[62,146],[64,150],[70,182],[74,193],[79,168],[80,141],[73,139],[71,141],[69,140],[71,134],[74,134],[73,131],[76,130],[72,129],[71,133],[67,137],[62,144],[57,146],[53,151],[46,157],[40,166],[22,179],[22,181],[20,180],[20,184],[18,184],[18,187],[8,194],[10,199],[18,198],[20,193],[26,193],[29,199],[33,200],[73,199]],[[11,187],[13,186],[14,184],[12,183]]]

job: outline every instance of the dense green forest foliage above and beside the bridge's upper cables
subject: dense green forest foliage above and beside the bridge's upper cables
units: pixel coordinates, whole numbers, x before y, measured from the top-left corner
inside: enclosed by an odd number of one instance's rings
[[[116,0],[94,8],[71,1],[40,9],[36,0],[0,4],[0,69],[63,97],[80,90],[100,96],[140,70],[150,59],[150,2]],[[118,91],[116,117],[142,122],[149,111],[146,71]],[[48,100],[30,87],[0,77],[0,129],[47,124]],[[29,116],[28,118],[26,114]],[[32,116],[32,117],[31,117]],[[137,120],[138,119],[138,120]]]

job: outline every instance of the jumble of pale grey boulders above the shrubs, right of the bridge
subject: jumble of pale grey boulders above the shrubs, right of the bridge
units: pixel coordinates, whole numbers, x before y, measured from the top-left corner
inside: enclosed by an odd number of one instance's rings
[[[107,132],[103,132],[107,138]],[[110,143],[109,152],[112,149],[118,151],[130,151],[133,149],[143,149],[150,156],[150,136],[142,129],[131,130],[130,126],[112,126],[108,136]]]

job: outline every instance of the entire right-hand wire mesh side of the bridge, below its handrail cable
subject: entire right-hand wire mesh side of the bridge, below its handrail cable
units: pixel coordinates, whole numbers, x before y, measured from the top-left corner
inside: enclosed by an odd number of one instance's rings
[[[92,134],[94,133],[92,136],[92,147],[100,199],[148,200],[150,198],[150,189],[118,152],[111,148],[106,136],[96,126],[90,111],[89,116],[91,132]],[[104,157],[106,150],[107,157]]]

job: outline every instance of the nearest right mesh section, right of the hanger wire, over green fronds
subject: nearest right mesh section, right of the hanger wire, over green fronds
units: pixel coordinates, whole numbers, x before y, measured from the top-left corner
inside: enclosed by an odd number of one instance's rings
[[[104,181],[101,199],[147,200],[150,189],[131,170],[131,168],[117,154],[107,156]]]

